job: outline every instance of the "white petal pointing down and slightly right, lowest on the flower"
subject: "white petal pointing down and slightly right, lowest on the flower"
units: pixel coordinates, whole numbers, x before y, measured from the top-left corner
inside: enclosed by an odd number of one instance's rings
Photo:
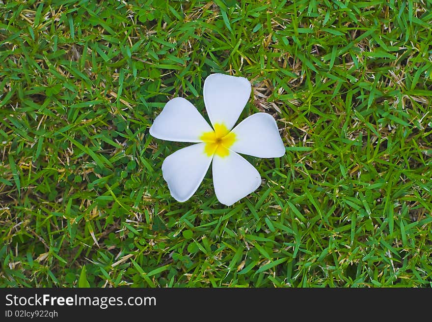
[[[230,151],[225,157],[213,157],[213,184],[217,200],[224,205],[232,205],[261,184],[258,171],[241,155]]]

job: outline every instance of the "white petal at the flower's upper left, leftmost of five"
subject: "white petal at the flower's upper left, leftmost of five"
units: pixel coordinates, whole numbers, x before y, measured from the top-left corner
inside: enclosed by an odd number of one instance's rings
[[[199,137],[209,131],[209,123],[183,97],[169,100],[150,127],[151,136],[177,142],[202,142]]]

